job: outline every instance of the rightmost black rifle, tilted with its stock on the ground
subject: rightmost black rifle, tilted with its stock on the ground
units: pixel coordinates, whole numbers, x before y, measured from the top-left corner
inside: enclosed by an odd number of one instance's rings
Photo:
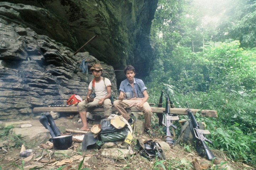
[[[186,104],[187,104],[187,102],[186,102]],[[207,144],[204,142],[204,141],[207,141],[208,143],[212,144],[212,141],[210,141],[209,139],[207,139],[204,136],[204,134],[206,134],[206,132],[199,128],[196,118],[194,117],[192,111],[189,109],[188,104],[187,104],[187,108],[188,108],[187,109],[188,121],[190,124],[190,129],[191,129],[194,141],[196,142],[197,153],[201,157],[204,157],[206,155],[206,158],[208,160],[212,160],[215,156],[212,153],[212,151],[208,148]]]

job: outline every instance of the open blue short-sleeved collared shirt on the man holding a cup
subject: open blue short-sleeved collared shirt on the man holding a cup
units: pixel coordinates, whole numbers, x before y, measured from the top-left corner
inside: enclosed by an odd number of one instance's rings
[[[145,87],[144,82],[141,79],[134,78],[133,87],[134,87],[135,93],[137,95],[137,98],[143,98],[144,97],[143,92],[147,89]],[[130,85],[130,83],[128,82],[128,79],[125,79],[124,81],[121,82],[119,92],[120,91],[122,91],[124,93],[131,93],[132,98],[135,97],[135,96],[133,96],[133,88]]]

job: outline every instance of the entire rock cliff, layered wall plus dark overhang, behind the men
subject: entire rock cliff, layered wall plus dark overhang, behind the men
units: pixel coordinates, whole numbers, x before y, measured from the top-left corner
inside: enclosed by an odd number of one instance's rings
[[[0,119],[26,119],[34,107],[63,104],[73,93],[84,98],[93,77],[82,73],[82,59],[89,68],[102,64],[113,95],[124,78],[114,69],[131,64],[145,77],[154,59],[148,36],[156,6],[157,0],[0,1]]]

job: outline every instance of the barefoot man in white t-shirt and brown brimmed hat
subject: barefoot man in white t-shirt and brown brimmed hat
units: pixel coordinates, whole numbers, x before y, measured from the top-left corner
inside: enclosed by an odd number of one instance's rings
[[[94,106],[103,106],[104,115],[107,118],[112,113],[112,104],[111,104],[111,82],[108,78],[101,77],[102,67],[100,64],[94,64],[90,68],[94,79],[90,82],[88,87],[88,93],[82,102],[78,103],[78,111],[80,118],[82,120],[82,128],[80,130],[90,131],[87,126],[86,120],[86,108],[91,108]],[[90,98],[92,92],[95,93],[96,97],[94,99]]]

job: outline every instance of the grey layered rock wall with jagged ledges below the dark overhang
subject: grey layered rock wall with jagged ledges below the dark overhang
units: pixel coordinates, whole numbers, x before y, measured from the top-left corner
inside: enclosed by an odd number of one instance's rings
[[[38,35],[30,28],[0,18],[0,119],[27,119],[34,116],[37,106],[61,105],[71,94],[83,99],[93,76],[82,73],[80,63],[103,67],[102,76],[112,82],[116,96],[116,78],[113,67],[98,61],[89,53],[73,52],[46,35]]]

